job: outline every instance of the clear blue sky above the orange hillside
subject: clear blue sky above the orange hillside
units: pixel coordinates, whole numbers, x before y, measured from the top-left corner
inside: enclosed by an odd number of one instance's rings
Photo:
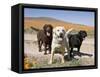
[[[25,17],[51,17],[71,23],[94,26],[94,12],[51,10],[51,9],[24,9]]]

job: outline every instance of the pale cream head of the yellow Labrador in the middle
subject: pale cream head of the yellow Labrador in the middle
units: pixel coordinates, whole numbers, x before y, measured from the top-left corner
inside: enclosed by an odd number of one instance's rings
[[[65,28],[64,27],[56,27],[53,29],[53,34],[56,36],[56,38],[63,39],[65,35]]]

